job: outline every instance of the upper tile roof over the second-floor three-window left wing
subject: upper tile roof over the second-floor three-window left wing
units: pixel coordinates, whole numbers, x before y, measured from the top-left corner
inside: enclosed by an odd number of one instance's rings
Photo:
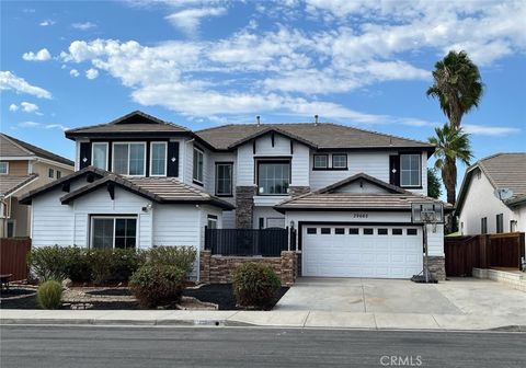
[[[105,124],[91,125],[85,127],[79,127],[66,130],[67,138],[73,138],[78,136],[90,135],[104,135],[104,134],[156,134],[156,133],[191,133],[185,127],[180,125],[162,120],[152,115],[146,114],[140,111],[135,111],[127,115],[124,115],[115,120]]]

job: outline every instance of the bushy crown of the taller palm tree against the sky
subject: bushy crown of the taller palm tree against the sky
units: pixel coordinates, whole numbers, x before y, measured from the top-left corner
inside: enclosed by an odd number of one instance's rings
[[[427,96],[437,97],[441,108],[451,127],[458,128],[464,114],[478,107],[484,84],[479,68],[466,51],[449,51],[435,64],[434,83],[427,89]]]

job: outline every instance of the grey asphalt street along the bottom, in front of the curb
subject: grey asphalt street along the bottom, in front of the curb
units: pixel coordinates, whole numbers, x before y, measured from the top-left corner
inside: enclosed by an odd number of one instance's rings
[[[2,325],[0,367],[524,367],[526,334]]]

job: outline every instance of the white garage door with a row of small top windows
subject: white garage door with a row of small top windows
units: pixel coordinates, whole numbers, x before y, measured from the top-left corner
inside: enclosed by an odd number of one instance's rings
[[[422,229],[304,226],[302,275],[410,278],[422,271]]]

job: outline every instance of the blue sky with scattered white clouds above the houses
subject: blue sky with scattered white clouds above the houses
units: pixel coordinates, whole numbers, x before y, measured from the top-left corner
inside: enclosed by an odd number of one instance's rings
[[[525,1],[1,2],[1,130],[68,158],[66,128],[134,110],[199,129],[322,122],[426,139],[434,62],[466,49],[477,158],[524,151]]]

